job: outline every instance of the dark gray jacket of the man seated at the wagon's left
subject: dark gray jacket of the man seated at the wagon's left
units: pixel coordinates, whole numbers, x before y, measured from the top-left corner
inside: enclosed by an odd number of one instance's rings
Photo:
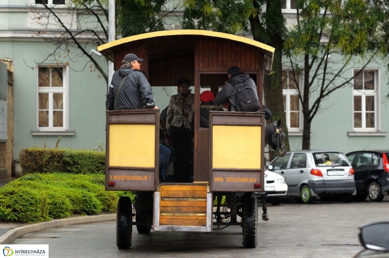
[[[113,74],[111,86],[109,86],[108,110],[114,110],[115,97],[126,74],[128,76],[116,100],[116,110],[154,108],[153,92],[143,73],[132,68],[120,68]],[[142,105],[142,101],[145,105]]]

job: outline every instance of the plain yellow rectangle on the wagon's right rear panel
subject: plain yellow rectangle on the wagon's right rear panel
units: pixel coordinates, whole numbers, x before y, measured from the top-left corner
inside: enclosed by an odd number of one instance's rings
[[[261,168],[260,126],[213,126],[213,168]]]

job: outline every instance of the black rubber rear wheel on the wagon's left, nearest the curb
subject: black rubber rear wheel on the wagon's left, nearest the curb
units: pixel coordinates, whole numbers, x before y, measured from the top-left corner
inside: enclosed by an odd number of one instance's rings
[[[119,249],[128,249],[132,244],[132,203],[128,196],[118,201],[116,214],[116,245]]]

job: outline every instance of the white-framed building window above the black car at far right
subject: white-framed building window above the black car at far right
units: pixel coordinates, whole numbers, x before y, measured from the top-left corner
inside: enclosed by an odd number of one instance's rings
[[[354,130],[377,130],[378,71],[354,70],[353,127]]]

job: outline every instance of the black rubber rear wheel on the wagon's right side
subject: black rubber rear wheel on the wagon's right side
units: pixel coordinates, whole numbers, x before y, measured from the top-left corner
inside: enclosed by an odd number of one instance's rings
[[[258,202],[251,195],[243,195],[243,246],[248,248],[257,246]]]

